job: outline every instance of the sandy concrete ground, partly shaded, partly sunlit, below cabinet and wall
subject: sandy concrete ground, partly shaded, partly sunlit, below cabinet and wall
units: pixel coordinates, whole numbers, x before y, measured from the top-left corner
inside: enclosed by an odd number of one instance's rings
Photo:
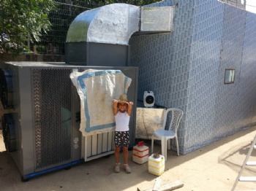
[[[187,155],[177,156],[176,152],[168,150],[165,172],[159,176],[162,184],[184,182],[184,187],[177,191],[231,190],[255,133],[256,127],[252,127]],[[150,150],[151,141],[145,143]],[[156,150],[161,150],[159,145]],[[0,190],[136,191],[153,188],[158,176],[148,173],[148,163],[132,162],[132,151],[129,151],[129,159],[132,174],[114,173],[114,155],[110,155],[20,182],[18,168],[5,151],[0,132]],[[256,160],[256,151],[252,152],[250,160]],[[256,176],[256,167],[246,168],[243,175]],[[256,190],[253,182],[238,182],[236,187],[236,190],[253,189]]]

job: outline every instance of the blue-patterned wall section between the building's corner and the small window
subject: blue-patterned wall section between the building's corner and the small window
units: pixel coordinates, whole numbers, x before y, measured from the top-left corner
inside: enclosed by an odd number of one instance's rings
[[[217,89],[224,82],[219,75],[223,5],[218,1],[195,1],[191,21],[187,111],[183,128],[184,147],[190,152],[214,140]]]

